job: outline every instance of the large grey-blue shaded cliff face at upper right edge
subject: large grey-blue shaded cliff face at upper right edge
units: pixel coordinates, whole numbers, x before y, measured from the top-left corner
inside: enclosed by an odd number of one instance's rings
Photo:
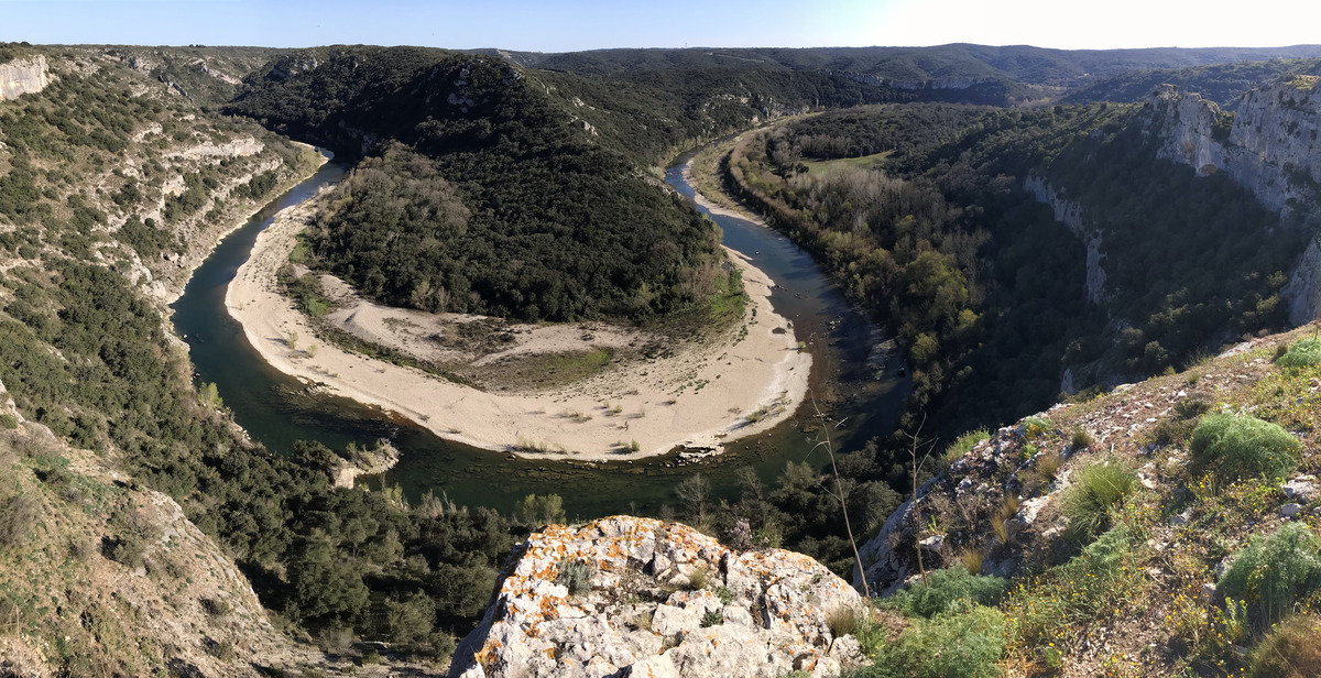
[[[1310,210],[1321,197],[1321,94],[1300,77],[1243,94],[1222,111],[1162,85],[1148,99],[1160,156],[1199,174],[1227,172],[1267,207]]]

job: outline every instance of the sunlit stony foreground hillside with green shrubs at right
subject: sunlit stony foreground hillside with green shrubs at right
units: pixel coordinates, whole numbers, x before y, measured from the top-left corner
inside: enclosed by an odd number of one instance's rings
[[[947,471],[863,547],[868,580],[951,603],[935,608],[946,625],[966,591],[997,591],[980,603],[1003,615],[1005,675],[1313,675],[1313,334],[951,445]],[[960,675],[993,674],[980,670]]]

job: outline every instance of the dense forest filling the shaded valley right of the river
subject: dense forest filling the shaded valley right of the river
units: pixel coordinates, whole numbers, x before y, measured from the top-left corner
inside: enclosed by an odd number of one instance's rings
[[[782,126],[736,149],[736,190],[812,248],[908,350],[914,412],[955,430],[1048,406],[1077,387],[1185,365],[1285,322],[1283,271],[1303,234],[1227,177],[1156,157],[1145,110],[881,106]],[[884,169],[804,159],[893,151]],[[1055,223],[1025,190],[1044,177],[1085,215]],[[1271,233],[1244,251],[1244,238]],[[1091,234],[1091,235],[1089,235]],[[1104,300],[1085,295],[1098,237]]]

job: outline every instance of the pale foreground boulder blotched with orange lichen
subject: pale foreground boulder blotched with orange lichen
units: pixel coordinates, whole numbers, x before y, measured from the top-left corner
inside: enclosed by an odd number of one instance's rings
[[[590,589],[576,595],[565,585],[575,568],[590,568]],[[864,607],[802,554],[737,552],[650,518],[550,526],[510,555],[450,675],[834,675],[861,656],[827,619]]]

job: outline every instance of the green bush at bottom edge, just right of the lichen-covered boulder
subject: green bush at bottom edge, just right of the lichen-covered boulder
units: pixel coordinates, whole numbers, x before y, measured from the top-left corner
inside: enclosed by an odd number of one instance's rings
[[[1004,652],[1004,616],[982,605],[917,620],[876,661],[847,678],[995,678]]]

